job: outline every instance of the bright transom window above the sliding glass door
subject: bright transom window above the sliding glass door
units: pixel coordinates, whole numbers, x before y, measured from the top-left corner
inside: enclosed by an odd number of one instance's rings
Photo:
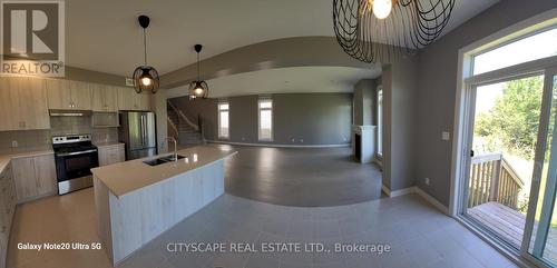
[[[473,75],[557,56],[557,29],[532,34],[473,57]]]

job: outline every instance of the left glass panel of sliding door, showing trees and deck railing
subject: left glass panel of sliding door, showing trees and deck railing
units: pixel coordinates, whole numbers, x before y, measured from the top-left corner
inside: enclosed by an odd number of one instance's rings
[[[534,181],[544,75],[471,88],[471,150],[465,215],[520,249]]]

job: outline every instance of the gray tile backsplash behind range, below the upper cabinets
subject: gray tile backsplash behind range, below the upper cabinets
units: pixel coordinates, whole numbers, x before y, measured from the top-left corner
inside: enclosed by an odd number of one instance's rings
[[[0,131],[0,155],[50,150],[52,136],[76,133],[91,133],[94,143],[118,141],[118,128],[91,128],[90,117],[51,117],[50,130]]]

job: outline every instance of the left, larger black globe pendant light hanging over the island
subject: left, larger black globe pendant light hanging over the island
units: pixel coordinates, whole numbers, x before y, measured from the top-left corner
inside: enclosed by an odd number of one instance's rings
[[[155,68],[147,66],[147,33],[146,29],[149,27],[150,19],[147,16],[139,16],[137,18],[139,26],[143,28],[143,44],[144,44],[144,64],[139,66],[134,71],[134,87],[137,93],[143,91],[150,91],[156,93],[159,85],[158,72]]]

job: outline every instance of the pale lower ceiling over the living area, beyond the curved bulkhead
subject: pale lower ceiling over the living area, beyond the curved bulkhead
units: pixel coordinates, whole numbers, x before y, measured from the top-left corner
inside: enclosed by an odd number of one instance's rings
[[[378,78],[380,67],[358,69],[348,67],[294,67],[244,72],[208,80],[209,97],[222,98],[266,93],[353,92],[356,81]],[[167,91],[168,98],[187,95],[188,88]]]

